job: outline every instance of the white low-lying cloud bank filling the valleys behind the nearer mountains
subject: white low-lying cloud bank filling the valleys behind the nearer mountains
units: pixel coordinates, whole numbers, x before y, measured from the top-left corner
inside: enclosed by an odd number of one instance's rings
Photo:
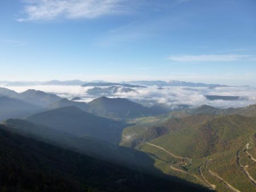
[[[60,97],[80,97],[81,101],[89,102],[98,97],[86,93],[93,87],[81,86],[58,86],[58,85],[36,85],[36,86],[2,86],[17,92],[27,89],[42,90],[47,93],[54,93]],[[147,88],[134,88],[135,91],[123,92],[119,89],[112,97],[128,98],[144,105],[155,103],[174,107],[176,105],[201,106],[210,105],[220,108],[244,107],[256,103],[256,88],[254,87],[161,87],[149,86]],[[236,101],[208,100],[204,95],[239,96]]]

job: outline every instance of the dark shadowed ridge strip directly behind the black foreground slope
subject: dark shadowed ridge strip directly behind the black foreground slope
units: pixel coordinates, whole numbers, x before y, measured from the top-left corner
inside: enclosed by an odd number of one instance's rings
[[[146,155],[141,155],[137,151],[119,147],[118,145],[113,145],[91,136],[78,137],[67,132],[31,123],[23,119],[7,119],[2,122],[2,124],[9,127],[11,132],[18,133],[19,135],[58,145],[62,148],[67,148],[72,151],[127,166],[129,168],[135,166],[135,156],[137,156],[136,158],[144,160],[147,158]]]

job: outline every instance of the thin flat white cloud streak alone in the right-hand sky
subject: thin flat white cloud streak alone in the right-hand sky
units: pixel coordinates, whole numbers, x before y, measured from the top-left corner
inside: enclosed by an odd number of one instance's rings
[[[168,59],[176,62],[238,61],[251,58],[250,55],[173,55]]]

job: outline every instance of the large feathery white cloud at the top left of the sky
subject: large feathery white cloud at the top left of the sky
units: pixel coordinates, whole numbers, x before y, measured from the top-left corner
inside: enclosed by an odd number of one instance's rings
[[[123,5],[126,0],[26,0],[22,12],[26,15],[18,19],[52,20],[59,16],[67,19],[92,19],[102,15],[129,12]]]

